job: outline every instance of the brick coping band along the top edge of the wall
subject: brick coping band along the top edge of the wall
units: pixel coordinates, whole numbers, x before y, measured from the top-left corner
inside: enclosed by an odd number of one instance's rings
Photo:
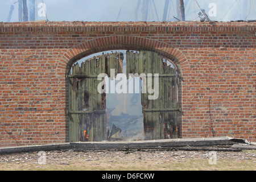
[[[110,27],[119,29],[112,30]],[[136,31],[131,28],[137,28],[137,31],[255,31],[256,22],[0,22],[0,34],[38,31]]]

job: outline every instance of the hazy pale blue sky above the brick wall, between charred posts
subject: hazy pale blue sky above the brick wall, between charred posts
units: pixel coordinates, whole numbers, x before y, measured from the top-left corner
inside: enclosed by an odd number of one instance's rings
[[[139,8],[137,9],[138,2]],[[162,21],[166,0],[36,0],[36,20],[49,21],[136,21],[142,19],[143,1],[149,1],[147,21]],[[176,1],[170,0],[167,21],[177,21]],[[11,5],[14,11],[10,22],[18,22],[18,0],[0,0],[0,22],[6,22]],[[42,13],[43,6],[47,17]],[[210,20],[227,22],[230,20],[256,19],[255,0],[184,0],[185,19],[200,20],[199,6]],[[30,0],[27,0],[28,9]],[[136,18],[136,14],[138,18]]]

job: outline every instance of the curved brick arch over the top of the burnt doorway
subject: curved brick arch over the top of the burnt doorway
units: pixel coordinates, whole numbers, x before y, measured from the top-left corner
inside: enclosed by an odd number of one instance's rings
[[[82,57],[91,55],[97,52],[110,51],[115,49],[130,49],[140,50],[144,49],[159,53],[168,59],[175,58],[175,64],[182,73],[189,69],[189,63],[179,49],[172,47],[170,44],[160,42],[154,39],[141,38],[136,36],[106,36],[96,38],[81,43],[77,47],[69,49],[61,57],[56,73],[68,73],[72,64]]]

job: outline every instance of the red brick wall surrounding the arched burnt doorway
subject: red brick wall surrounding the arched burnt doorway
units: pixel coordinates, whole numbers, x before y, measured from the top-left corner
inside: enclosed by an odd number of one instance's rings
[[[256,23],[0,23],[0,146],[68,142],[65,73],[112,49],[176,57],[181,136],[256,140]]]

